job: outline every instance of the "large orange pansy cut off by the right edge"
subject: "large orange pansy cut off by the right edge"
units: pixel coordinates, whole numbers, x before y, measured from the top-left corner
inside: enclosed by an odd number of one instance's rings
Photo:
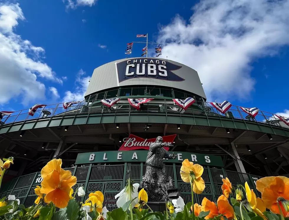
[[[262,193],[262,200],[267,209],[273,213],[280,214],[277,205],[278,197],[284,198],[284,201],[289,201],[289,178],[285,176],[269,176],[256,181],[256,188]],[[279,202],[282,214],[285,218],[289,217],[287,207],[284,209],[283,202]],[[285,204],[286,205],[286,204]],[[289,208],[289,207],[288,207]]]

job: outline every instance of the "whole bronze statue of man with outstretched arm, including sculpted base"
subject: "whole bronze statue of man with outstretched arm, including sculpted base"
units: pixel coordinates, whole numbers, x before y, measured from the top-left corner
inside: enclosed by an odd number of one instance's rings
[[[141,188],[144,188],[150,201],[165,201],[168,197],[168,189],[174,188],[171,177],[167,177],[163,172],[165,159],[175,159],[177,155],[170,154],[163,147],[173,147],[163,143],[162,137],[158,136],[155,143],[150,144],[150,150],[147,153],[146,172],[142,177]]]

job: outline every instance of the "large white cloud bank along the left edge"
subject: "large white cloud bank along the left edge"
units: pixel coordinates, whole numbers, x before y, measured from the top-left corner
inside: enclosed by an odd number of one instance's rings
[[[45,99],[45,85],[37,77],[62,84],[51,68],[40,61],[44,49],[13,32],[24,20],[19,4],[0,4],[0,104],[22,97],[22,104]],[[29,54],[29,57],[28,55]]]

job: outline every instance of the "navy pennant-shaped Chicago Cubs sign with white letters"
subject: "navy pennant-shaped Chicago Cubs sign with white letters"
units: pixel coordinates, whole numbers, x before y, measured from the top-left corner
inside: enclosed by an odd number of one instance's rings
[[[184,81],[173,70],[179,70],[181,66],[158,59],[129,59],[116,64],[119,82],[132,78],[155,78],[168,81]]]

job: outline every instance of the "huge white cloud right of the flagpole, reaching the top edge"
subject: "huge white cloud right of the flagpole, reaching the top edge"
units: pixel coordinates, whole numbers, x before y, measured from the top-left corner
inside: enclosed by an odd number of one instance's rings
[[[246,97],[252,61],[289,44],[289,0],[201,0],[193,10],[160,28],[162,56],[198,71],[209,100]]]

